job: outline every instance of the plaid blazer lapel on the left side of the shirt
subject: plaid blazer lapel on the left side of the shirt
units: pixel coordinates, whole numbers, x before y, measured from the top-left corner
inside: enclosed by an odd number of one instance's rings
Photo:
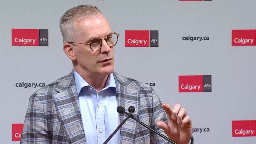
[[[72,144],[86,143],[73,71],[55,88],[54,105],[64,132]]]

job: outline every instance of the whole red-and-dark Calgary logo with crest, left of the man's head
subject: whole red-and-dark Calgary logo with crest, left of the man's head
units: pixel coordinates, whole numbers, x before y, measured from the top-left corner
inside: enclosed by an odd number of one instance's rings
[[[12,46],[48,46],[47,29],[11,29]]]

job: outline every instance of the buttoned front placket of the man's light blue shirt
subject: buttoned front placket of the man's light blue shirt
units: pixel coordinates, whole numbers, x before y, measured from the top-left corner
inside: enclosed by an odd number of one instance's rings
[[[106,134],[105,134],[105,117],[104,117],[104,110],[102,106],[102,95],[100,94],[97,94],[96,125],[97,125],[98,144],[102,144],[106,139]]]

